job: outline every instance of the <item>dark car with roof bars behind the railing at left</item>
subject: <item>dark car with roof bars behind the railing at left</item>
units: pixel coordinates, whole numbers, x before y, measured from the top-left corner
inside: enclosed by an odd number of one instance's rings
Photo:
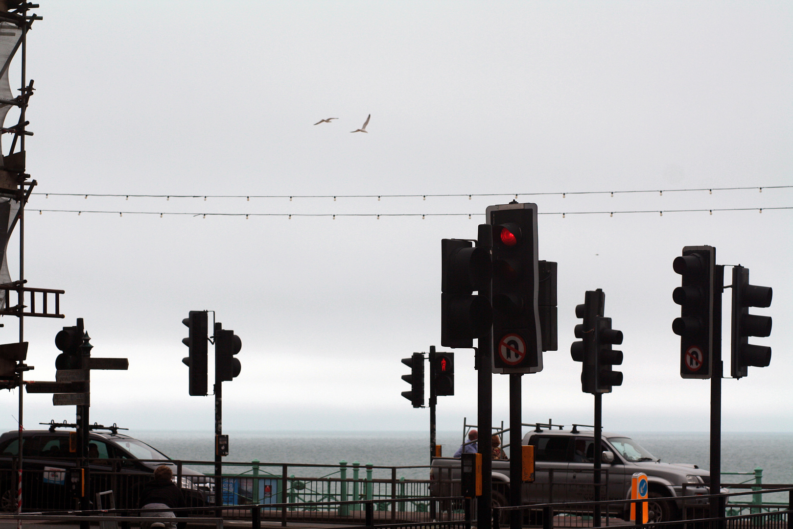
[[[76,451],[70,450],[70,433],[59,430],[22,432],[22,508],[25,511],[75,508],[69,471],[79,467]],[[95,493],[113,490],[117,508],[137,508],[140,489],[151,480],[155,468],[171,466],[174,481],[182,488],[187,504],[204,507],[214,503],[211,478],[176,462],[139,439],[118,433],[119,428],[91,427],[89,440],[90,500]],[[106,430],[99,432],[95,430]],[[74,450],[74,446],[71,447]],[[2,511],[15,511],[19,432],[0,435],[0,494]],[[178,479],[181,477],[181,479]],[[106,507],[106,506],[105,506]]]

